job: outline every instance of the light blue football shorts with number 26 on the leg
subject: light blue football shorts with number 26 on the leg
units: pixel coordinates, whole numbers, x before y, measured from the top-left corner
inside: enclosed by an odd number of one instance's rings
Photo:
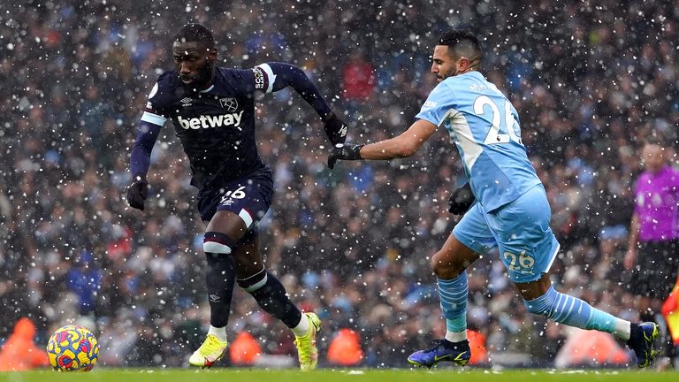
[[[453,234],[483,256],[497,248],[509,279],[526,283],[549,271],[559,252],[559,241],[549,227],[551,218],[545,188],[538,185],[492,212],[477,202],[455,225]]]

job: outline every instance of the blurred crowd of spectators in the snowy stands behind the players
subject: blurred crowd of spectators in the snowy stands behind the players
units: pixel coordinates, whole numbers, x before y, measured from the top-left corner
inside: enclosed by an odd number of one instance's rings
[[[361,142],[412,123],[436,85],[439,34],[469,27],[548,192],[561,242],[553,282],[637,319],[622,256],[639,149],[649,136],[677,148],[677,2],[51,0],[0,10],[0,342],[30,317],[42,344],[58,326],[88,325],[104,365],[181,366],[202,343],[204,226],[170,123],[146,210],[124,198],[135,125],[189,21],[214,31],[220,65],[301,66]],[[261,249],[293,301],[324,321],[319,363],[332,364],[324,355],[349,329],[357,364],[407,367],[446,331],[429,264],[457,221],[446,211],[465,181],[454,145],[441,130],[414,157],[331,172],[322,125],[299,95],[266,95],[256,112],[260,153],[276,172]],[[553,366],[573,335],[525,311],[498,258],[473,266],[469,294],[481,363]],[[286,327],[237,290],[230,338],[241,332],[271,359],[294,355]]]

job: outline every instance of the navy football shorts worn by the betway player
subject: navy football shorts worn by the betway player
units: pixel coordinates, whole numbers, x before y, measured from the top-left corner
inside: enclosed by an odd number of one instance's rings
[[[198,211],[209,222],[218,210],[229,210],[254,228],[271,206],[273,173],[264,169],[244,178],[226,182],[223,187],[204,188],[198,193]]]

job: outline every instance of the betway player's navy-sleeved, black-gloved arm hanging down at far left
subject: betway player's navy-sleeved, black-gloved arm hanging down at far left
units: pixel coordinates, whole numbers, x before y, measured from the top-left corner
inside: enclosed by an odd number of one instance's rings
[[[127,202],[132,208],[144,210],[144,201],[149,195],[149,182],[146,181],[146,173],[149,172],[151,151],[156,144],[162,126],[140,121],[137,127],[137,139],[134,141],[130,155],[130,172],[133,175],[132,183],[127,186]]]

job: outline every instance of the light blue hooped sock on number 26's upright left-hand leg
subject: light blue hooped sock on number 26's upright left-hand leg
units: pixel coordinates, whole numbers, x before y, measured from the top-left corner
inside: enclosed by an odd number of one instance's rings
[[[448,332],[467,331],[467,297],[469,287],[467,285],[467,271],[462,271],[454,279],[439,279],[439,298],[441,310],[446,317]]]

